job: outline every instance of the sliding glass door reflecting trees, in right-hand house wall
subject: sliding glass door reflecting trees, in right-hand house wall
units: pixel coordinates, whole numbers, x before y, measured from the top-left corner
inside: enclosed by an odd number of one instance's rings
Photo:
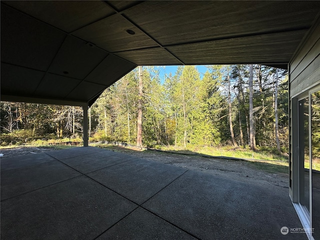
[[[320,239],[320,89],[298,99],[298,204],[308,235]],[[301,219],[301,218],[300,218]]]

